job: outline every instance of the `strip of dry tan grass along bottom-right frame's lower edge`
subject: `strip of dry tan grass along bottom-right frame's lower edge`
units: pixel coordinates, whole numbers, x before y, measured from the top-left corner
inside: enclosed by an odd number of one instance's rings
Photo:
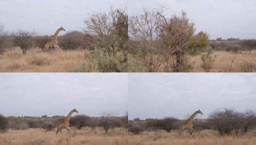
[[[256,145],[256,132],[219,137],[211,130],[203,130],[192,136],[188,133],[178,135],[178,131],[156,131],[140,135],[129,134],[128,140],[128,145]]]

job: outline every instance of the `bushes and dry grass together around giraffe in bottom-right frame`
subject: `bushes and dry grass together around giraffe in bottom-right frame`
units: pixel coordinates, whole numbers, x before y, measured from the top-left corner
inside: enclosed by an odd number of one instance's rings
[[[185,120],[163,118],[129,121],[129,145],[254,145],[256,114],[223,109],[207,119],[195,119],[195,135],[178,135],[178,126]],[[172,126],[169,126],[169,125]],[[170,129],[170,130],[169,130]]]

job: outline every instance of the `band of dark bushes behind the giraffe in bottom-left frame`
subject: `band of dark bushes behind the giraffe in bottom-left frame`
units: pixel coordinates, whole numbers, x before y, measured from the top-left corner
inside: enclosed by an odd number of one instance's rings
[[[71,127],[81,129],[82,127],[88,126],[91,128],[103,127],[106,133],[110,128],[114,129],[116,127],[127,128],[128,120],[127,116],[116,117],[116,116],[101,116],[101,117],[89,117],[87,115],[75,115],[70,118],[69,124]],[[43,115],[42,117],[31,117],[22,116],[15,117],[9,116],[4,117],[0,115],[0,132],[4,133],[8,129],[13,130],[24,130],[28,128],[43,128],[47,131],[53,130],[58,122],[63,121],[64,116],[53,116],[47,117]]]

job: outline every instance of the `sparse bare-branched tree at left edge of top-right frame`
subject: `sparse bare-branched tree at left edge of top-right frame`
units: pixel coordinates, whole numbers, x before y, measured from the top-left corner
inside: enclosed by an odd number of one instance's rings
[[[139,52],[149,72],[156,72],[160,66],[162,52],[158,47],[159,27],[157,10],[143,9],[142,14],[129,19],[129,34],[134,52]]]

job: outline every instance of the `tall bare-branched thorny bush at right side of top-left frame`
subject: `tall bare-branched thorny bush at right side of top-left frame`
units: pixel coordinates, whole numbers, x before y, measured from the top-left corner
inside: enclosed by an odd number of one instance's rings
[[[106,52],[106,58],[112,57],[118,62],[109,65],[124,65],[123,72],[127,72],[128,15],[125,10],[111,9],[109,13],[94,13],[84,22],[85,33],[95,36],[91,45]]]

